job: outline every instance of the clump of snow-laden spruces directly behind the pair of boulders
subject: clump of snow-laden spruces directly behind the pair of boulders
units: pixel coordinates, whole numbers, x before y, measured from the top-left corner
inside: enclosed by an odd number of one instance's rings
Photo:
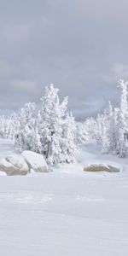
[[[18,115],[15,148],[43,154],[49,165],[73,162],[75,121],[67,113],[68,98],[60,102],[59,90],[46,87],[41,108],[27,103]]]

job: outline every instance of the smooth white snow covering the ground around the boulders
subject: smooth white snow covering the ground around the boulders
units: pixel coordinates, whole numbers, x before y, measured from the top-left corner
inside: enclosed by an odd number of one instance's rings
[[[14,152],[0,140],[0,156]],[[102,155],[93,142],[78,164],[25,177],[0,177],[0,255],[127,256],[128,159]],[[83,172],[106,163],[119,173]]]

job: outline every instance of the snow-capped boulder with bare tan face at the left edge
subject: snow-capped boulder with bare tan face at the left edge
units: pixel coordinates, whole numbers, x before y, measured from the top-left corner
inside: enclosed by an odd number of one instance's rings
[[[0,160],[0,171],[7,175],[26,175],[29,167],[20,154],[10,154]]]

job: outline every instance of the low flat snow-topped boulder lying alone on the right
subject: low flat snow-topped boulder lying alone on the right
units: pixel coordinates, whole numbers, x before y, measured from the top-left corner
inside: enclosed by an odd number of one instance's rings
[[[93,164],[84,167],[84,172],[120,172],[120,170],[116,166]]]

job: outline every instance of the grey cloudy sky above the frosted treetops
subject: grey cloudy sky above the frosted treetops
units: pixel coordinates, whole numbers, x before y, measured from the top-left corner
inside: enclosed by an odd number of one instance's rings
[[[0,113],[50,83],[77,118],[118,101],[128,79],[127,0],[0,0]]]

